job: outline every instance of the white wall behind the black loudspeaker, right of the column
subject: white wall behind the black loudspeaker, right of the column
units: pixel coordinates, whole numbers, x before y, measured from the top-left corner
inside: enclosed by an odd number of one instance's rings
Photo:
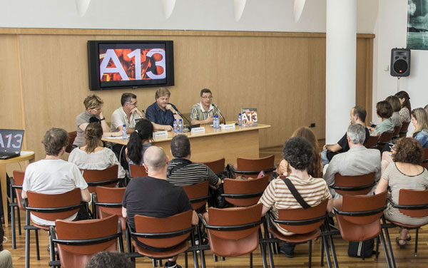
[[[379,15],[375,26],[374,40],[374,80],[373,109],[377,101],[397,93],[397,78],[383,71],[390,68],[391,48],[405,48],[407,39],[407,1],[379,0]],[[410,76],[401,78],[400,90],[407,91],[412,108],[424,107],[428,104],[428,51],[412,50]],[[373,120],[379,122],[376,113]],[[412,129],[409,128],[409,133]]]

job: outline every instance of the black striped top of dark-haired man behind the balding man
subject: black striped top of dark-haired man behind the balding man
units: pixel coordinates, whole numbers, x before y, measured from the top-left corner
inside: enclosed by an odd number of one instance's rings
[[[185,161],[190,164],[185,165],[182,168],[174,170],[172,174],[169,174],[176,165],[185,163]],[[208,166],[201,163],[191,163],[189,160],[183,158],[174,158],[168,163],[168,177],[167,180],[173,185],[185,186],[185,185],[194,185],[199,182],[204,182],[208,180],[210,185],[217,185],[218,180],[220,180],[217,175],[208,168]]]

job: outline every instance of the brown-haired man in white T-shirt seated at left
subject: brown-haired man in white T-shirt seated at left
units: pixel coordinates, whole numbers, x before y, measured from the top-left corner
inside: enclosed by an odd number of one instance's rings
[[[22,198],[26,192],[39,192],[47,195],[62,194],[75,188],[81,189],[81,200],[89,202],[91,195],[88,184],[83,179],[81,171],[73,163],[61,159],[68,144],[68,133],[62,128],[51,128],[46,131],[43,140],[46,158],[31,163],[25,170],[22,184]],[[77,213],[67,219],[74,220]],[[39,225],[55,225],[54,221],[44,220],[31,214],[31,220]]]

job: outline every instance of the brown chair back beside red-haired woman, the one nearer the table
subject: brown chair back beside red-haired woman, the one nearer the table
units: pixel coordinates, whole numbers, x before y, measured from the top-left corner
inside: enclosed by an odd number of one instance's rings
[[[263,171],[265,175],[272,177],[272,172],[275,170],[275,155],[269,155],[266,158],[236,158],[236,170],[231,167],[236,176],[257,177]]]

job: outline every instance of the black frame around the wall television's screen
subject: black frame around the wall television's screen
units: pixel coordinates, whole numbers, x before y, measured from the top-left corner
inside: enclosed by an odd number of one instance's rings
[[[165,68],[166,68],[166,82],[163,83],[147,83],[145,80],[129,80],[129,81],[115,81],[112,86],[101,86],[100,79],[100,59],[99,59],[99,45],[100,44],[164,44],[165,45]],[[173,41],[88,41],[88,82],[91,91],[101,91],[106,89],[116,88],[146,88],[146,87],[162,87],[174,86],[174,46]]]

